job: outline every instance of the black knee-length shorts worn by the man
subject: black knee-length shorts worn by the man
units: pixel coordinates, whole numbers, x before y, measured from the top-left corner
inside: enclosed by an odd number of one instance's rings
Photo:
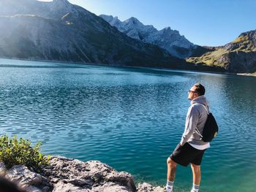
[[[204,152],[205,150],[197,150],[186,142],[183,146],[178,144],[170,158],[182,166],[188,166],[190,163],[200,165]]]

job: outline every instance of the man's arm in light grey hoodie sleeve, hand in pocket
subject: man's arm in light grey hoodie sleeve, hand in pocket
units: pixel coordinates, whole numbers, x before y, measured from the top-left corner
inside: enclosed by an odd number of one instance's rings
[[[189,107],[189,110],[187,112],[185,131],[181,137],[181,142],[180,142],[181,146],[183,146],[194,133],[195,128],[197,126],[198,118],[199,118],[199,111],[197,110],[197,107],[195,106]]]

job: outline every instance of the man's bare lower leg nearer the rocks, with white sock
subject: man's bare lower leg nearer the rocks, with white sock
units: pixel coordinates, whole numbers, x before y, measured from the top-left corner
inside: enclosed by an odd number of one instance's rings
[[[169,158],[167,158],[167,184],[166,191],[173,191],[173,182],[175,180],[176,175],[176,166],[177,164]]]

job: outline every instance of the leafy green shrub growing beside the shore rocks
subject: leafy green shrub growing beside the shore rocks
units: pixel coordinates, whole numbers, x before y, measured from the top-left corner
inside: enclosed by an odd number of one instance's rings
[[[27,139],[17,139],[16,136],[9,138],[7,135],[0,137],[0,161],[10,168],[14,165],[22,164],[29,169],[40,172],[44,166],[49,164],[48,158],[39,152],[42,143],[37,142],[31,147],[31,142]]]

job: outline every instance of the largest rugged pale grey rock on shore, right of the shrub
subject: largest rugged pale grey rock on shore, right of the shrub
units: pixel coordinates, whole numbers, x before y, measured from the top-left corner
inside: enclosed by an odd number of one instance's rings
[[[76,191],[102,191],[104,188],[104,191],[108,191],[108,187],[136,191],[131,174],[116,172],[112,167],[99,161],[84,163],[70,158],[53,157],[50,158],[50,166],[45,168],[45,172],[54,185],[54,191],[68,191],[69,188]]]

